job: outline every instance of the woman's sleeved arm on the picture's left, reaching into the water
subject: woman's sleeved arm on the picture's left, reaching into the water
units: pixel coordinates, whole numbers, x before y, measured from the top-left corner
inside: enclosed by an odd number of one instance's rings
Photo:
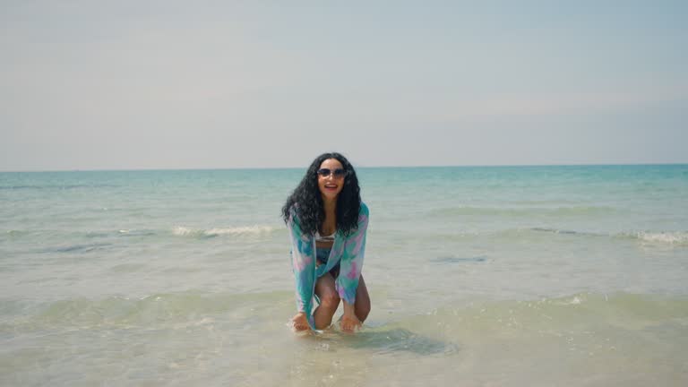
[[[292,211],[287,227],[291,238],[291,264],[297,285],[297,310],[305,313],[311,329],[315,329],[314,318],[311,314],[315,288],[314,236],[302,234],[295,212]]]

